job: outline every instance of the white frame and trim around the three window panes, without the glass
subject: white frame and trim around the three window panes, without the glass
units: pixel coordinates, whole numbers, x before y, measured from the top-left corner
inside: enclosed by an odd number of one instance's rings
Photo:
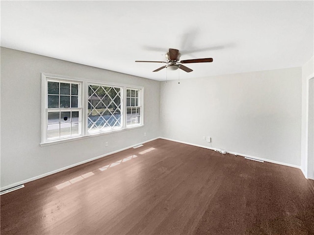
[[[80,108],[72,108],[80,109],[81,110],[81,134],[77,136],[69,136],[63,137],[59,139],[52,139],[47,140],[47,125],[48,125],[48,81],[59,81],[59,82],[73,82],[79,83],[80,85],[80,92],[79,94],[79,102]],[[87,126],[87,115],[88,115],[88,86],[89,85],[98,85],[98,86],[113,86],[119,87],[121,89],[121,128],[112,128],[110,130],[99,131],[94,133],[88,133],[88,126]],[[140,105],[141,105],[141,123],[137,125],[127,126],[127,108],[126,108],[126,96],[127,96],[127,89],[137,89],[140,91]],[[60,108],[58,110],[61,110]],[[68,109],[68,108],[65,108]],[[100,82],[95,81],[92,79],[83,79],[83,78],[76,78],[76,77],[69,77],[63,75],[55,75],[50,73],[42,73],[42,85],[41,85],[41,146],[51,145],[55,143],[62,143],[67,141],[75,141],[84,138],[95,137],[99,135],[110,134],[113,132],[125,131],[133,128],[139,128],[144,126],[144,87],[140,86],[133,86],[129,84],[118,84],[118,83],[110,83],[110,82]]]

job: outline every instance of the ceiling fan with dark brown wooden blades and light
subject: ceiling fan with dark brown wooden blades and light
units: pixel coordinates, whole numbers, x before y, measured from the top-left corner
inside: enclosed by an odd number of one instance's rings
[[[186,66],[182,65],[182,64],[189,64],[189,63],[204,63],[204,62],[212,62],[213,59],[212,58],[204,58],[204,59],[191,59],[191,60],[181,60],[180,59],[180,52],[177,49],[172,49],[169,48],[169,52],[167,52],[165,54],[166,56],[166,61],[146,61],[146,60],[136,60],[135,62],[150,62],[150,63],[166,63],[167,65],[162,66],[160,68],[158,68],[157,70],[154,70],[153,72],[157,72],[159,70],[162,70],[164,68],[168,68],[169,69],[173,69],[173,70],[177,70],[177,69],[181,69],[183,71],[186,72],[191,72],[193,70],[191,70],[190,68],[187,68]]]

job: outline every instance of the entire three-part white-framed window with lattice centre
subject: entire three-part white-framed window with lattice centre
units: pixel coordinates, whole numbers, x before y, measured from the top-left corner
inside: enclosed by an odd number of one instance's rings
[[[50,143],[143,125],[144,88],[42,74],[42,140]]]

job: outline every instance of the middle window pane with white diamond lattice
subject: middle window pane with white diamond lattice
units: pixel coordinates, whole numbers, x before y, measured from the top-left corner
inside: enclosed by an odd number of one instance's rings
[[[88,86],[88,132],[121,128],[121,88]]]

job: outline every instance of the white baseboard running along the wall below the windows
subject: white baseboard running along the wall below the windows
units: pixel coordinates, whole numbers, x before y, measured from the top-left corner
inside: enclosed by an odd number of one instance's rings
[[[11,185],[3,186],[3,187],[0,188],[0,191],[6,190],[8,188],[13,188],[13,187],[16,187],[16,186],[19,186],[19,185],[23,185],[23,184],[26,184],[28,182],[31,182],[31,181],[34,181],[34,180],[38,180],[40,178],[43,178],[43,177],[46,177],[46,176],[58,173],[60,171],[63,171],[63,170],[69,169],[69,168],[72,168],[74,166],[78,166],[78,165],[81,165],[81,164],[84,164],[84,163],[88,163],[88,162],[94,161],[96,159],[108,156],[110,154],[118,153],[118,152],[121,152],[123,150],[126,150],[126,149],[132,148],[134,146],[137,146],[139,144],[147,143],[147,142],[150,142],[150,141],[155,141],[157,139],[159,139],[159,138],[157,137],[157,138],[154,138],[154,139],[151,139],[151,140],[148,140],[148,141],[144,141],[144,142],[141,142],[141,143],[136,143],[136,144],[133,144],[131,146],[128,146],[128,147],[125,147],[125,148],[122,148],[122,149],[119,149],[119,150],[116,150],[116,151],[113,151],[113,152],[110,152],[110,153],[106,153],[106,154],[101,155],[101,156],[97,156],[97,157],[94,157],[94,158],[91,158],[91,159],[87,159],[85,161],[82,161],[82,162],[79,162],[79,163],[76,163],[76,164],[68,165],[68,166],[62,167],[60,169],[52,170],[50,172],[47,172],[47,173],[44,173],[44,174],[41,174],[41,175],[38,175],[38,176],[35,176],[35,177],[32,177],[32,178],[29,178],[29,179],[26,179],[26,180],[22,180],[20,182],[17,182],[17,183],[11,184]]]

